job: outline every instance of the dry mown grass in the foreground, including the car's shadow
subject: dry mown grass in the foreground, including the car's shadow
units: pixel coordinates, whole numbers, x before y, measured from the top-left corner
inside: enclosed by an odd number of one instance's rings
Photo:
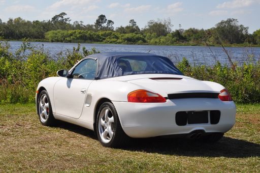
[[[237,122],[215,145],[184,139],[138,139],[104,148],[93,132],[69,123],[45,127],[34,104],[0,105],[0,172],[260,170],[260,104],[238,105]]]

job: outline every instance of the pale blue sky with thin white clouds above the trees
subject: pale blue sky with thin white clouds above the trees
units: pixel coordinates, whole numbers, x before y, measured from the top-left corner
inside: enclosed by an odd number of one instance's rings
[[[25,20],[49,20],[66,12],[71,23],[93,24],[99,15],[114,21],[114,27],[126,26],[134,19],[140,28],[149,20],[168,19],[173,30],[195,27],[208,29],[228,18],[248,26],[249,33],[260,28],[260,0],[0,0],[0,19],[21,17]]]

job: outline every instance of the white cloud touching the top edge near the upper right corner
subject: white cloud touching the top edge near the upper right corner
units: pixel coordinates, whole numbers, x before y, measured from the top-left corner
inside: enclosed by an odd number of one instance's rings
[[[222,4],[217,5],[217,8],[241,8],[241,7],[248,7],[252,5],[255,1],[253,0],[233,0],[233,1],[228,1],[224,2]]]

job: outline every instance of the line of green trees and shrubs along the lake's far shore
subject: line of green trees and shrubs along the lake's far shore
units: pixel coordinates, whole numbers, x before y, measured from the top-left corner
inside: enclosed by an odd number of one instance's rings
[[[100,15],[95,23],[84,24],[74,21],[62,12],[50,20],[28,21],[20,17],[3,22],[0,19],[0,38],[20,40],[28,38],[49,42],[81,43],[120,43],[120,44],[154,44],[154,45],[256,45],[260,44],[260,29],[248,33],[248,27],[239,24],[234,18],[222,20],[208,30],[188,28],[172,30],[170,19],[157,19],[147,22],[144,28],[134,19],[126,26],[114,28],[114,22]]]

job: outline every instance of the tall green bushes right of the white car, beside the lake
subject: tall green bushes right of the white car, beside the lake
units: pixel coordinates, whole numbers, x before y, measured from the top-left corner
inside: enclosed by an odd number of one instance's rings
[[[217,62],[213,67],[191,66],[184,58],[177,67],[184,75],[222,84],[238,103],[260,102],[260,62],[249,61],[236,69]]]

